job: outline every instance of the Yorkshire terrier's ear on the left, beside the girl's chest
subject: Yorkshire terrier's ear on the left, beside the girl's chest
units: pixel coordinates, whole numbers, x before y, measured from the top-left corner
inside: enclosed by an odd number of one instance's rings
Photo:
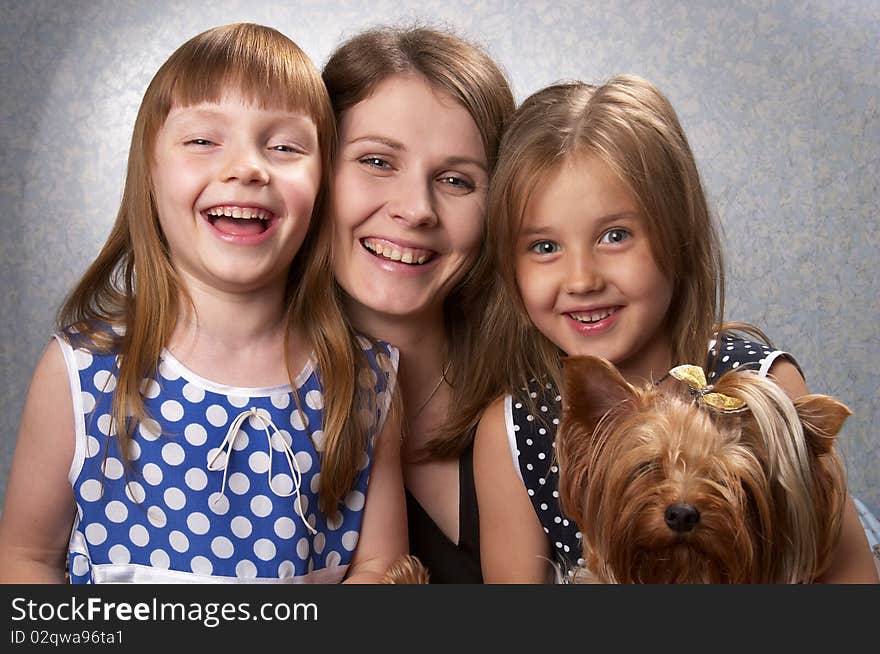
[[[562,361],[562,411],[570,419],[595,424],[609,409],[635,396],[607,359],[573,356]]]

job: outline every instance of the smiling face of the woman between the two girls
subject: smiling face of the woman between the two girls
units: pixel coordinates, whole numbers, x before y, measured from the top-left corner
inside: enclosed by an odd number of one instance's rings
[[[418,75],[380,83],[339,121],[334,272],[363,328],[437,318],[480,248],[488,163],[467,110]]]

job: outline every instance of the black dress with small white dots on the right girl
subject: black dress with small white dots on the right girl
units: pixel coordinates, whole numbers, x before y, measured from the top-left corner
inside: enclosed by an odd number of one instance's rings
[[[719,349],[716,350],[716,346]],[[713,341],[709,347],[709,362],[715,359],[715,366],[709,372],[710,383],[741,366],[766,375],[781,356],[797,365],[786,352],[729,334],[723,335],[720,343]],[[530,407],[535,407],[534,413]],[[583,561],[581,534],[575,521],[564,515],[559,506],[559,469],[553,448],[562,415],[562,397],[553,384],[533,380],[528,389],[507,396],[504,413],[514,467],[547,534],[556,563],[562,570],[570,570]]]

